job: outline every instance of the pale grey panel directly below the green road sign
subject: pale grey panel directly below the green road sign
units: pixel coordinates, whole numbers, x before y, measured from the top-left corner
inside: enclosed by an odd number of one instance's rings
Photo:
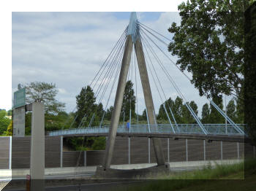
[[[25,106],[13,109],[13,136],[25,136]]]

